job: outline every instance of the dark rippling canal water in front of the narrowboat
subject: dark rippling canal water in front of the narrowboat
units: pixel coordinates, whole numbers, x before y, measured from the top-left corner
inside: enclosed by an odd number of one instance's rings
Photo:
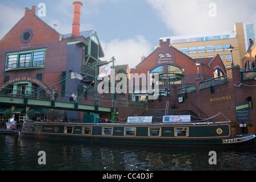
[[[40,155],[44,151],[45,155]],[[210,151],[216,164],[209,164]],[[46,164],[39,164],[45,156]],[[210,159],[210,161],[213,158]],[[1,171],[254,171],[256,146],[179,148],[95,144],[0,134]]]

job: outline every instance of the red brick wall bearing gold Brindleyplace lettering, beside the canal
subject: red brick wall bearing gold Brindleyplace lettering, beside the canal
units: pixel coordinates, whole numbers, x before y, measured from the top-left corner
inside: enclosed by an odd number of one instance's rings
[[[214,86],[214,93],[210,93],[210,88],[199,89],[200,80],[196,82],[196,92],[187,93],[187,99],[183,103],[177,105],[178,109],[189,109],[194,111],[200,118],[213,117],[218,113],[222,113],[230,121],[237,123],[237,130],[241,132],[242,129],[239,124],[242,121],[236,119],[236,103],[247,102],[246,98],[249,96],[255,100],[256,81],[241,81],[240,67],[233,67],[228,69],[228,83],[225,85]],[[240,84],[245,85],[240,85]],[[230,96],[230,99],[211,101],[213,98]],[[252,123],[256,126],[256,102],[253,102],[253,109],[249,109],[250,121],[244,123]],[[213,118],[212,121],[226,121],[227,119],[222,115]],[[210,121],[210,120],[209,120]]]

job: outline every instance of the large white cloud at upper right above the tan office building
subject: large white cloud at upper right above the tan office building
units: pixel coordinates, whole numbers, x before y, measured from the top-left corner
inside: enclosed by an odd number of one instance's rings
[[[256,24],[255,0],[146,0],[175,35],[233,31],[234,23]],[[209,16],[210,3],[216,16]]]

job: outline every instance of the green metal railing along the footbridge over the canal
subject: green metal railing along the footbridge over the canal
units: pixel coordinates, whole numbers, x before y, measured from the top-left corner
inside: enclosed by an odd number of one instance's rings
[[[16,89],[14,89],[16,88]],[[19,97],[19,98],[34,98],[38,100],[55,100],[60,102],[77,102],[86,105],[98,105],[105,107],[112,107],[112,94],[111,93],[98,93],[97,98],[95,93],[75,93],[76,100],[70,101],[69,98],[72,92],[63,92],[56,89],[38,88],[28,85],[14,85],[0,83],[0,96]],[[118,94],[116,94],[118,96]],[[97,100],[97,103],[96,103]],[[134,107],[142,108],[145,102],[143,101],[130,101],[122,98],[114,98],[114,107]]]

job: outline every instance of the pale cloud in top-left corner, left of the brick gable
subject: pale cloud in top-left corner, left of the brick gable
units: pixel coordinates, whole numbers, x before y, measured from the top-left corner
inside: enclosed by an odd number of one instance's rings
[[[24,16],[24,9],[0,4],[0,39]]]

